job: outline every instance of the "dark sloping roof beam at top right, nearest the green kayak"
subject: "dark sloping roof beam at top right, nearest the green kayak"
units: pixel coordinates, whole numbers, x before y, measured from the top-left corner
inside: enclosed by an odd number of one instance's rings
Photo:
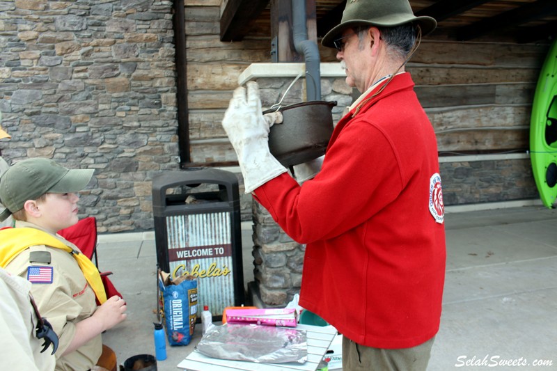
[[[500,29],[507,29],[536,19],[557,14],[557,1],[538,0],[524,6],[508,10],[494,17],[482,19],[457,30],[457,40],[467,41]]]

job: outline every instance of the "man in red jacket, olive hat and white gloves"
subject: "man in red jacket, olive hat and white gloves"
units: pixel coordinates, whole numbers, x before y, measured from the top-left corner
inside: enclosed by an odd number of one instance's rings
[[[407,0],[347,1],[322,40],[363,94],[339,121],[322,168],[270,154],[258,87],[235,90],[223,127],[252,192],[306,244],[300,306],[343,334],[343,370],[425,370],[445,276],[437,141],[405,63],[437,22]],[[309,171],[309,172],[308,172]],[[313,171],[313,172],[312,172]],[[307,175],[311,176],[307,176]]]

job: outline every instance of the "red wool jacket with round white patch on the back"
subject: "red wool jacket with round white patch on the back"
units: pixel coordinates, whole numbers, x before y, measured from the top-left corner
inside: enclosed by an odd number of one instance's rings
[[[441,178],[413,88],[410,74],[399,74],[354,118],[343,117],[322,170],[303,187],[284,173],[254,192],[307,244],[299,304],[368,347],[414,347],[439,330]]]

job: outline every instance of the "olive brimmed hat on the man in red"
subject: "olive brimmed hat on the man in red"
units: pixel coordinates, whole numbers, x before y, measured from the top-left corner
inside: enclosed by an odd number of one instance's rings
[[[321,44],[335,47],[334,40],[340,38],[343,31],[354,26],[392,27],[413,22],[418,24],[422,35],[427,35],[437,27],[432,17],[416,17],[408,0],[347,0],[343,19],[338,26],[327,32]]]

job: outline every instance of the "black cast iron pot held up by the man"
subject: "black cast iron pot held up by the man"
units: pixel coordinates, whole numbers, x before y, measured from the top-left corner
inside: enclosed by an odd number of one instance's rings
[[[269,150],[283,166],[303,164],[324,155],[333,134],[336,102],[314,100],[283,106],[283,122],[269,132]],[[268,109],[270,113],[276,109]]]

